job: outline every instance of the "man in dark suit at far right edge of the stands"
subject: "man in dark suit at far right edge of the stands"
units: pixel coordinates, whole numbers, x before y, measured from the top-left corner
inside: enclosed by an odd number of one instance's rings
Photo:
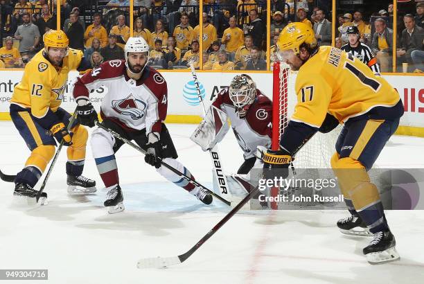
[[[408,66],[410,71],[412,65],[414,65],[411,57],[412,51],[423,51],[424,29],[416,26],[412,14],[405,15],[403,17],[403,23],[405,24],[405,30],[402,31],[400,48],[396,51],[396,57],[398,57],[398,67],[401,69],[401,63],[408,63],[411,65]]]

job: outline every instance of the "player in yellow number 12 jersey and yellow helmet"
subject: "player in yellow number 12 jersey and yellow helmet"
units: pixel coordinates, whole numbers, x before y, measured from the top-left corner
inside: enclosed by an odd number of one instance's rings
[[[69,39],[62,30],[50,30],[43,39],[44,49],[26,64],[24,76],[10,100],[12,121],[31,150],[24,169],[15,179],[14,195],[37,196],[37,190],[33,187],[55,154],[55,140],[68,146],[68,192],[93,193],[96,191],[95,181],[81,175],[87,130],[73,123],[68,131],[71,114],[60,107],[68,73],[80,66],[83,54],[82,51],[68,48]]]

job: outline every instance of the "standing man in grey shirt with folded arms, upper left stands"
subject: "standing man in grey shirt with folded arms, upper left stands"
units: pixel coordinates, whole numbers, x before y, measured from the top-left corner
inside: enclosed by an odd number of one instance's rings
[[[31,23],[28,13],[22,14],[24,24],[17,27],[15,39],[19,40],[19,53],[21,56],[28,55],[28,58],[35,54],[39,43],[39,30],[35,24]]]

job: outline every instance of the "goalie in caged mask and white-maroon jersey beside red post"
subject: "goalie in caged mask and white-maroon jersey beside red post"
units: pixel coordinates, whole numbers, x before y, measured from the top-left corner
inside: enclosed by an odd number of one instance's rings
[[[272,135],[272,102],[246,74],[234,77],[220,91],[191,139],[204,151],[213,148],[229,130],[227,118],[245,159],[237,173],[246,175],[256,162],[256,148],[270,147]]]

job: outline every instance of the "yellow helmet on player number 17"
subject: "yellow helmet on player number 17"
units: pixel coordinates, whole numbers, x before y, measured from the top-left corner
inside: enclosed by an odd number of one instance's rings
[[[292,50],[296,55],[299,54],[302,44],[308,44],[310,48],[315,48],[317,39],[315,39],[314,30],[310,26],[299,22],[285,26],[276,42],[279,51]]]

